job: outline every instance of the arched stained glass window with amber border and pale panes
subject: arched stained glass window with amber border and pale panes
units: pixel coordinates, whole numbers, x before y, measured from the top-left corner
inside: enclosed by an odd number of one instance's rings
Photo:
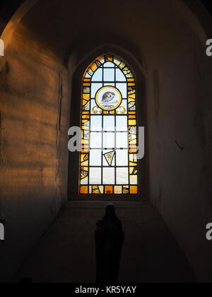
[[[138,194],[136,82],[110,54],[88,66],[81,98],[79,194]]]

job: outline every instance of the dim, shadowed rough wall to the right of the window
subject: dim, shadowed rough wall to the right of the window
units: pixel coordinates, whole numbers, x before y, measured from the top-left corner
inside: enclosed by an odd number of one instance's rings
[[[199,281],[211,282],[212,64],[187,30],[187,39],[175,35],[179,50],[166,46],[170,54],[158,57],[148,81],[151,201]]]

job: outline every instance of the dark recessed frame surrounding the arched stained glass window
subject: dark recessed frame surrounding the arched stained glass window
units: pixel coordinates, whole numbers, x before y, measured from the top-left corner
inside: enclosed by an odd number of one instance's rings
[[[146,105],[145,105],[145,88],[143,75],[138,67],[130,57],[124,57],[124,54],[119,54],[117,51],[97,51],[78,65],[72,80],[72,94],[71,94],[71,114],[70,127],[81,127],[81,87],[83,75],[90,65],[97,57],[102,55],[112,55],[122,59],[129,65],[129,68],[134,74],[136,81],[136,120],[137,127],[145,127]],[[145,144],[147,134],[145,134]],[[68,199],[77,201],[128,201],[136,202],[148,199],[148,172],[147,172],[147,158],[138,161],[139,170],[139,194],[79,194],[79,176],[80,176],[80,152],[69,152],[69,169],[68,169]],[[73,172],[75,172],[73,174]],[[144,175],[146,173],[146,175]]]

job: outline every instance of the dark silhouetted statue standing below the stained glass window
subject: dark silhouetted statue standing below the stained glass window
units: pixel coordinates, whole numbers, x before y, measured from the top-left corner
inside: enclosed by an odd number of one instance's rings
[[[122,223],[115,214],[114,205],[108,204],[95,231],[97,284],[117,283],[123,241]]]

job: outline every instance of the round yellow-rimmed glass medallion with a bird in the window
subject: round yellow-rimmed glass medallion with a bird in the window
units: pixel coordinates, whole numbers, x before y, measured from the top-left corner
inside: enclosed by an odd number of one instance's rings
[[[116,110],[122,103],[122,94],[113,86],[105,86],[96,93],[95,102],[102,110]]]

